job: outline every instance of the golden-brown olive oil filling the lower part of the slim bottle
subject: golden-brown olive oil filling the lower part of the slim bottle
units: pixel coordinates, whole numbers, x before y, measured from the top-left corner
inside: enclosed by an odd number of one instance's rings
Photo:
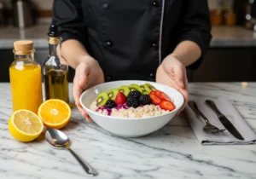
[[[60,99],[69,102],[68,99],[68,72],[62,70],[50,70],[44,75],[45,98]]]

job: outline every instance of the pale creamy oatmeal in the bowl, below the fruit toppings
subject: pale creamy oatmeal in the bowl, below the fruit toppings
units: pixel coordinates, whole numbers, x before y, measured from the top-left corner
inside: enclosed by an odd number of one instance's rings
[[[152,116],[159,116],[163,113],[168,113],[168,111],[163,110],[160,106],[156,106],[154,104],[145,105],[141,107],[127,107],[117,106],[109,109],[107,107],[97,107],[96,101],[93,101],[90,104],[90,110],[96,113],[102,113],[108,116],[120,117],[120,118],[143,118],[143,117],[152,117]]]

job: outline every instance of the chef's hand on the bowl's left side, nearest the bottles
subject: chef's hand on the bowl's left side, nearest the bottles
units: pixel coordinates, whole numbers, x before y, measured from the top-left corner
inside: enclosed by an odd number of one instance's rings
[[[91,118],[79,102],[80,95],[84,90],[87,90],[96,84],[102,84],[103,82],[104,74],[96,60],[84,59],[84,62],[79,63],[76,67],[75,77],[73,78],[73,97],[80,113],[88,122],[91,121]]]

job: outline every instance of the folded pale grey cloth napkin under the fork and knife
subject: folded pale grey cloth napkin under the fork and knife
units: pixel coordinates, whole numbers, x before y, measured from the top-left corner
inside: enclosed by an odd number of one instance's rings
[[[225,129],[224,125],[219,121],[216,113],[212,111],[212,108],[208,107],[206,104],[206,99],[199,99],[191,96],[189,101],[195,101],[197,106],[201,109],[201,112],[209,119],[212,125],[218,127],[218,129]],[[194,111],[188,106],[185,108],[184,112],[189,119],[189,124],[195,132],[195,136],[202,145],[224,145],[224,144],[255,144],[256,135],[250,126],[247,124],[246,120],[241,117],[236,108],[231,104],[231,102],[225,97],[212,100],[215,102],[219,111],[223,113],[230,122],[236,127],[244,140],[241,141],[236,139],[235,136],[231,135],[228,130],[218,134],[207,134],[202,130],[206,125],[205,121],[201,116],[194,113]]]

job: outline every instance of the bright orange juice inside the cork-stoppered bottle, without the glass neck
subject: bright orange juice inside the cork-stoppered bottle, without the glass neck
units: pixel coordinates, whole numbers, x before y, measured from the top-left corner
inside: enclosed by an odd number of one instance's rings
[[[13,65],[9,68],[14,111],[27,109],[38,113],[43,102],[41,67],[34,64]]]

